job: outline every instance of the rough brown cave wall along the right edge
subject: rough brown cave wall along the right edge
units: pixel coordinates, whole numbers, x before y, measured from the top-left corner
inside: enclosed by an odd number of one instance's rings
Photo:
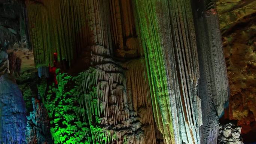
[[[246,143],[255,130],[256,1],[217,1],[230,86],[229,119],[237,120]]]

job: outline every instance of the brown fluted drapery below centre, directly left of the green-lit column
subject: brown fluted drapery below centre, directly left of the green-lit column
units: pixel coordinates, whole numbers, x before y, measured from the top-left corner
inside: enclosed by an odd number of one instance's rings
[[[146,65],[143,58],[135,59],[123,64],[126,70],[127,96],[129,110],[136,111],[136,115],[130,122],[141,123],[144,130],[145,140],[149,143],[156,143],[153,111],[150,98],[149,81],[147,80]]]

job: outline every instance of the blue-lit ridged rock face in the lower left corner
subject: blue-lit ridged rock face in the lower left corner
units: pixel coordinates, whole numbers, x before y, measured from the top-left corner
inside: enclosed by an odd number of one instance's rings
[[[0,60],[8,61],[3,53]],[[26,121],[25,102],[18,85],[9,73],[0,75],[0,143],[25,144]]]

